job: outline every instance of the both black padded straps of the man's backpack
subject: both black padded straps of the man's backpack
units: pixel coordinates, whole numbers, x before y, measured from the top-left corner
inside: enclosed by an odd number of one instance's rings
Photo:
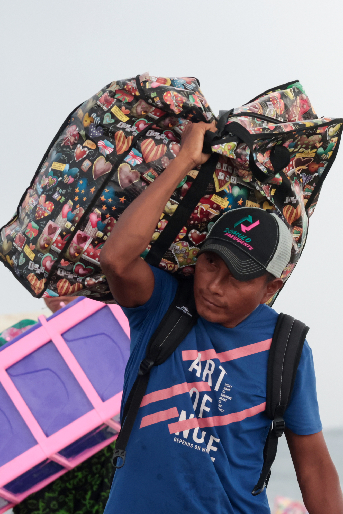
[[[180,342],[185,339],[197,319],[193,281],[190,279],[180,280],[173,302],[148,343],[146,358],[140,363],[138,376],[125,403],[122,426],[113,454],[112,478],[115,470],[123,467],[125,463],[125,448],[147,389],[151,368],[168,359]],[[270,468],[277,452],[278,439],[285,429],[283,414],[291,398],[308,330],[309,327],[301,321],[295,320],[287,314],[279,315],[270,346],[267,369],[265,413],[272,423],[263,449],[263,467],[260,478],[252,490],[254,496],[260,494],[268,484]],[[122,460],[120,465],[117,465],[118,458]]]

